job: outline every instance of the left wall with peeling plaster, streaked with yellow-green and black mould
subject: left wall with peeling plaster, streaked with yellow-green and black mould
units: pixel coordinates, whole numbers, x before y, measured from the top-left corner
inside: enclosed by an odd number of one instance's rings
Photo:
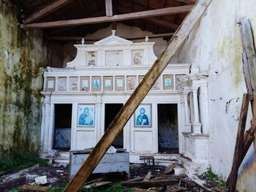
[[[0,156],[39,149],[46,54],[41,31],[21,30],[16,14],[0,2]]]

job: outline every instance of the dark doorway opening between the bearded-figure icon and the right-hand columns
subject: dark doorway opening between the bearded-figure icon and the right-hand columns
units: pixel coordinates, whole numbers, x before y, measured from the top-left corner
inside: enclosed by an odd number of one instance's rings
[[[177,104],[157,104],[157,115],[159,153],[178,153]]]

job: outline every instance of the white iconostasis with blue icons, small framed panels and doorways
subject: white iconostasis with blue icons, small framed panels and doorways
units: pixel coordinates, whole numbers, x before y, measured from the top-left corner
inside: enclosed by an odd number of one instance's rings
[[[133,43],[115,35],[94,45],[75,45],[76,58],[63,69],[44,72],[42,153],[94,147],[118,110],[135,91],[157,57],[154,42]],[[158,153],[159,106],[174,104],[178,146],[184,145],[184,104],[178,79],[189,64],[168,64],[135,115],[124,127],[116,146],[131,153]],[[161,118],[161,117],[160,117]],[[182,153],[179,147],[179,152]]]

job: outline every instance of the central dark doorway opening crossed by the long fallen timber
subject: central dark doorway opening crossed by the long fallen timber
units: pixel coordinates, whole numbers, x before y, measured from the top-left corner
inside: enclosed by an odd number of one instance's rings
[[[123,107],[123,104],[105,104],[105,131],[108,126],[112,123],[116,115]],[[113,147],[115,148],[124,148],[124,131],[122,130],[116,140],[113,142]]]

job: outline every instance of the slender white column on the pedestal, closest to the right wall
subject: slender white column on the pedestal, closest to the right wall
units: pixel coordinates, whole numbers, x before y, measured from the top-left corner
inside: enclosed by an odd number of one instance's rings
[[[193,122],[193,134],[202,134],[201,132],[201,123],[199,121],[199,108],[198,108],[198,99],[197,99],[197,91],[198,86],[192,87],[193,91],[193,106],[194,106],[194,118],[195,122]]]

